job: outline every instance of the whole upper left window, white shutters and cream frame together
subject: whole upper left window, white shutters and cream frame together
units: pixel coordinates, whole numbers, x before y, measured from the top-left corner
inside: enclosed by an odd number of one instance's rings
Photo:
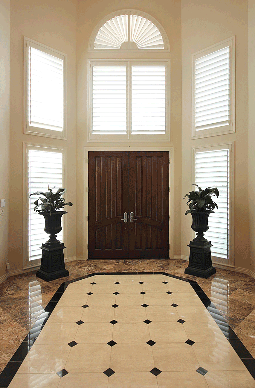
[[[65,54],[24,37],[24,133],[66,139]]]

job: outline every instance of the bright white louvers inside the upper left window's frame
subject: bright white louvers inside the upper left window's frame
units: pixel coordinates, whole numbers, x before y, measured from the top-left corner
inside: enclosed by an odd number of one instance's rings
[[[63,60],[29,47],[29,125],[63,130]]]

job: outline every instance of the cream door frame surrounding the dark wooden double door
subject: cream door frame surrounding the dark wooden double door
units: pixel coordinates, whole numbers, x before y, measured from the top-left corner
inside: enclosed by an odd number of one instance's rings
[[[169,257],[174,258],[174,147],[84,147],[83,149],[83,259],[88,260],[88,153],[89,152],[131,152],[131,151],[168,151],[169,152]],[[172,195],[170,195],[172,194]]]

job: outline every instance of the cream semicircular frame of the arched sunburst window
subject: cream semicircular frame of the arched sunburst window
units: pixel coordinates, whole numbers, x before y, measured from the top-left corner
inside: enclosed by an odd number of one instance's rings
[[[135,15],[138,15],[138,16],[142,16],[142,17],[145,17],[146,19],[148,19],[149,21],[151,21],[156,27],[157,29],[159,29],[159,32],[160,34],[162,35],[162,38],[163,38],[163,41],[164,41],[164,49],[140,49],[140,50],[132,50],[132,49],[129,49],[129,50],[120,50],[120,49],[95,49],[94,48],[94,42],[95,42],[95,38],[96,38],[96,35],[98,33],[98,31],[100,30],[100,28],[103,26],[103,24],[105,24],[107,21],[109,21],[110,19],[112,19],[113,17],[115,16],[120,16],[120,15],[123,15],[123,14],[135,14]],[[138,11],[138,10],[135,10],[135,9],[122,9],[122,10],[119,10],[119,11],[115,11],[115,12],[112,12],[111,14],[105,16],[98,24],[96,24],[95,28],[93,29],[93,32],[90,36],[90,40],[89,40],[89,43],[88,43],[88,52],[119,52],[119,53],[122,53],[122,52],[170,52],[170,47],[169,47],[169,40],[167,38],[167,34],[165,33],[165,30],[164,28],[158,23],[158,21],[156,19],[154,19],[154,17],[152,17],[151,15],[147,14],[146,12],[141,12],[141,11]]]

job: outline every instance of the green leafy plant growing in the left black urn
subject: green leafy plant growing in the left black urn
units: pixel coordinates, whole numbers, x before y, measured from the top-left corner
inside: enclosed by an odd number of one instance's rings
[[[55,187],[56,186],[54,186],[53,189]],[[59,209],[63,208],[66,205],[72,206],[72,202],[65,203],[65,200],[62,197],[62,195],[66,192],[65,189],[60,188],[55,193],[53,193],[53,189],[50,189],[48,185],[47,192],[44,193],[42,191],[36,191],[35,193],[29,195],[29,197],[40,194],[45,196],[45,198],[39,197],[38,199],[36,199],[36,201],[34,201],[34,204],[36,205],[34,207],[35,211],[38,211],[38,213],[46,212],[52,215],[52,213],[54,213],[55,211],[59,211]],[[39,200],[41,201],[40,203],[38,202]]]

